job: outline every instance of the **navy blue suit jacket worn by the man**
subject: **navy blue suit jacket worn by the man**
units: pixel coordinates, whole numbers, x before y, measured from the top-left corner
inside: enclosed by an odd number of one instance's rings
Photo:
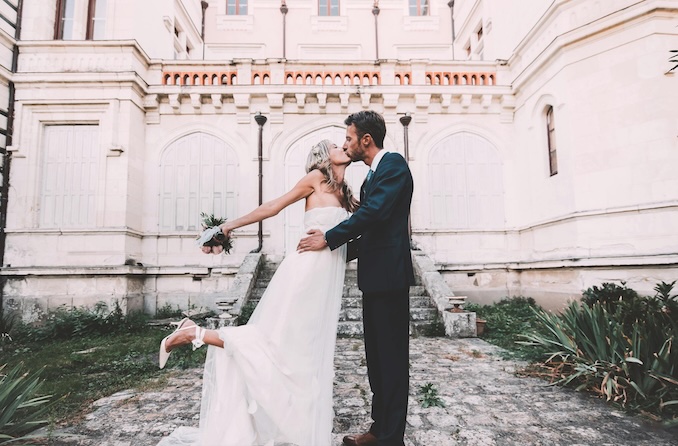
[[[405,159],[386,153],[360,190],[358,210],[325,233],[330,249],[351,240],[358,245],[358,288],[363,293],[414,284],[408,224],[413,189]]]

